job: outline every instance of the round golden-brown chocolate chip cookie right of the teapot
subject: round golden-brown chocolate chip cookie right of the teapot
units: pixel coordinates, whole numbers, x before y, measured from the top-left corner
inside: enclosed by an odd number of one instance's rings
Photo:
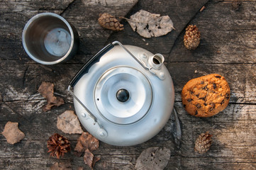
[[[219,74],[191,79],[182,89],[182,103],[196,117],[216,115],[228,106],[229,99],[228,82]]]

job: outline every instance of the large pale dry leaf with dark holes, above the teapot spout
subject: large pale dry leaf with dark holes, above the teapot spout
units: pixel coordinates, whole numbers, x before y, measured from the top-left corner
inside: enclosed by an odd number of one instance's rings
[[[145,38],[160,37],[171,32],[174,27],[169,16],[160,16],[160,14],[150,13],[140,10],[127,19],[133,31]]]

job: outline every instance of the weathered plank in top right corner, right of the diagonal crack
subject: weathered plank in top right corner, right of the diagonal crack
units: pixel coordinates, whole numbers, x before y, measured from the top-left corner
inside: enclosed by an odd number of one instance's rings
[[[233,1],[211,1],[189,24],[196,24],[201,43],[196,50],[177,39],[169,62],[254,63],[256,62],[255,1],[243,1],[238,11]]]

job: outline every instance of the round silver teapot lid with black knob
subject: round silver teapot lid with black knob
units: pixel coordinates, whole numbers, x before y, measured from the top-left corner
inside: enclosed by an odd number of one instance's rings
[[[94,88],[99,113],[112,123],[135,123],[150,110],[152,86],[138,69],[127,66],[108,69]]]

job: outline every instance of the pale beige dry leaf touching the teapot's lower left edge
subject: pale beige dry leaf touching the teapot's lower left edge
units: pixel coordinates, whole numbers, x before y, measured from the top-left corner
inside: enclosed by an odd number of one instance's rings
[[[83,132],[77,115],[74,111],[65,111],[57,117],[57,128],[69,134],[81,134]]]

